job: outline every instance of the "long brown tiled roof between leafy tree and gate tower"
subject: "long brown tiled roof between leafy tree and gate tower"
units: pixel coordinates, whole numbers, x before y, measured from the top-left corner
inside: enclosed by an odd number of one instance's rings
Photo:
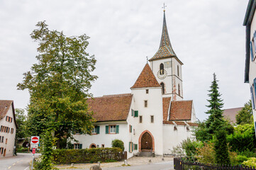
[[[116,94],[89,98],[87,103],[97,122],[117,121],[127,119],[132,98],[132,94]]]

